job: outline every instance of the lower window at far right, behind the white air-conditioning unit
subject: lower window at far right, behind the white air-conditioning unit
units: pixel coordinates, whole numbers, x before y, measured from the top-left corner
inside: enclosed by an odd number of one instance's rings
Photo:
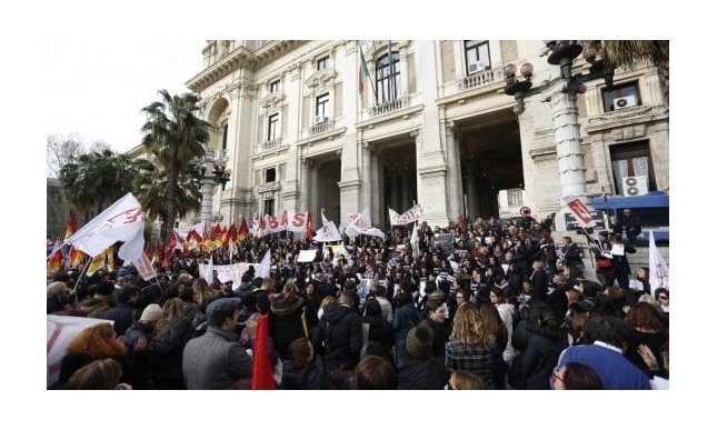
[[[656,188],[648,142],[614,144],[610,147],[610,161],[618,194],[625,196],[624,179],[628,177],[645,177],[648,190]]]

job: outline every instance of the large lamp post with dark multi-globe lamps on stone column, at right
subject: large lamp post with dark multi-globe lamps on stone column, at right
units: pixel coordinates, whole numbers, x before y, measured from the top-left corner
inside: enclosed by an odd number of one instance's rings
[[[582,47],[575,40],[546,40],[546,47],[540,56],[548,54],[548,63],[560,67],[560,76],[549,81],[544,81],[539,87],[532,87],[532,64],[529,62],[520,67],[521,79],[516,77],[515,64],[504,68],[506,80],[506,94],[514,96],[516,107],[514,111],[520,114],[525,110],[524,99],[540,94],[541,101],[550,103],[552,110],[552,132],[555,136],[556,152],[558,157],[558,174],[560,178],[560,208],[574,200],[580,199],[589,203],[585,179],[585,153],[580,139],[580,123],[578,122],[577,94],[586,91],[582,82],[604,78],[607,90],[613,87],[613,69],[603,60],[597,59],[592,48]],[[582,52],[585,59],[591,64],[588,74],[572,74],[572,61]],[[565,209],[561,209],[562,213]],[[565,226],[565,217],[556,217],[556,228]],[[565,230],[565,228],[562,228]]]

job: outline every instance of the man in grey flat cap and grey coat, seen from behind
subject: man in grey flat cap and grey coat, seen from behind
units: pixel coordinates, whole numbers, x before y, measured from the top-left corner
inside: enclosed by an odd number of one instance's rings
[[[241,299],[218,299],[207,306],[207,332],[185,347],[182,372],[189,390],[223,390],[251,378],[251,357],[237,342]],[[247,322],[253,341],[256,324]]]

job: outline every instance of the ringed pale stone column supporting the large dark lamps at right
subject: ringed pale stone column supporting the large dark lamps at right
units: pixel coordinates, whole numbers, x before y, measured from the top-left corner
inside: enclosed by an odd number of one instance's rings
[[[585,179],[585,153],[578,122],[577,94],[586,91],[580,82],[567,79],[556,80],[541,93],[542,101],[552,110],[552,132],[558,158],[560,179],[560,211],[556,216],[556,230],[565,230],[566,204],[580,199],[589,203]]]

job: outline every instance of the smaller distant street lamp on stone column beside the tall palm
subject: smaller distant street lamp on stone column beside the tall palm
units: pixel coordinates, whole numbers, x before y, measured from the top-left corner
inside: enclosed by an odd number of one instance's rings
[[[215,187],[221,184],[223,191],[231,177],[231,169],[227,168],[227,157],[223,151],[218,151],[218,157],[215,157],[213,150],[206,149],[203,159],[195,159],[189,162],[189,173],[199,181],[201,190],[200,219],[205,226],[209,226]]]

